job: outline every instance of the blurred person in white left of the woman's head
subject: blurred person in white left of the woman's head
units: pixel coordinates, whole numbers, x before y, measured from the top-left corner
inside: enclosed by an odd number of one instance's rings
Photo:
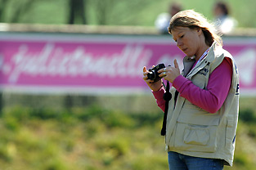
[[[182,6],[179,3],[173,2],[168,7],[168,12],[159,14],[155,20],[155,28],[161,34],[168,34],[168,25],[172,16],[174,16],[178,11],[182,11]]]

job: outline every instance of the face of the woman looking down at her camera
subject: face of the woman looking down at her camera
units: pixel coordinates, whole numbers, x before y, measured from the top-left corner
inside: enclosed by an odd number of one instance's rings
[[[201,29],[190,29],[188,27],[172,29],[173,40],[177,43],[177,47],[189,57],[200,55],[202,44],[200,34],[202,34]]]

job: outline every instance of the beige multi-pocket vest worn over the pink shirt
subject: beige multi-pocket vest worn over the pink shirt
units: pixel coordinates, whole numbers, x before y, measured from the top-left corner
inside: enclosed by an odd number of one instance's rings
[[[232,166],[239,107],[239,75],[235,60],[214,42],[208,56],[191,71],[189,69],[195,60],[186,56],[182,74],[196,86],[206,89],[209,74],[222,63],[224,57],[231,59],[233,75],[227,99],[218,112],[210,114],[179,95],[174,106],[176,89],[172,87],[173,98],[169,102],[165,136],[168,151],[195,157],[224,159],[225,164]]]

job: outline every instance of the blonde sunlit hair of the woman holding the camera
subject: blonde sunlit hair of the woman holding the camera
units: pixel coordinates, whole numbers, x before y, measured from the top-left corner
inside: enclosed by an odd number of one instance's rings
[[[208,46],[211,46],[214,41],[222,45],[222,38],[217,34],[214,26],[203,15],[193,10],[177,12],[170,20],[170,25],[168,26],[169,34],[172,34],[172,30],[177,27],[200,28],[204,33],[205,43]]]

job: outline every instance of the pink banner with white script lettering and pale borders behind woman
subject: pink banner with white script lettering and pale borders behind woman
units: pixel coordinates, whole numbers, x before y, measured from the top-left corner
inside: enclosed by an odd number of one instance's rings
[[[53,37],[53,38],[52,38]],[[256,40],[224,41],[240,71],[240,90],[256,94]],[[146,92],[144,65],[173,65],[182,69],[184,54],[172,38],[77,36],[0,38],[0,85],[34,92]]]

